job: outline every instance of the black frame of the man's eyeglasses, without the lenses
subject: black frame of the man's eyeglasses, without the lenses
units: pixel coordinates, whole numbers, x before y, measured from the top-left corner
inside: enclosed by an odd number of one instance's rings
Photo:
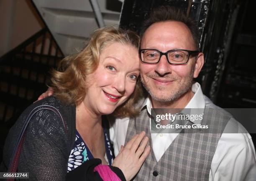
[[[141,58],[141,52],[144,51],[144,50],[155,50],[155,51],[158,51],[158,52],[160,53],[159,60],[158,60],[157,62],[154,62],[154,63],[149,63],[149,62],[143,61],[142,58]],[[172,52],[172,51],[187,51],[187,52],[188,52],[188,56],[187,56],[187,61],[186,61],[186,63],[182,63],[182,64],[174,64],[174,63],[171,63],[171,62],[169,61],[169,59],[168,59],[167,54],[168,54],[169,52]],[[159,61],[160,61],[160,59],[161,59],[161,57],[162,57],[163,55],[165,55],[165,57],[166,57],[166,59],[167,59],[167,62],[168,62],[169,64],[171,64],[171,65],[185,65],[185,64],[187,64],[187,62],[189,61],[190,55],[199,54],[199,53],[200,53],[200,51],[198,51],[198,50],[185,50],[185,49],[173,49],[173,50],[168,50],[168,51],[166,51],[166,52],[164,52],[164,53],[161,52],[160,50],[153,49],[153,48],[139,49],[140,59],[141,59],[141,61],[142,61],[143,63],[145,63],[145,64],[158,64]]]

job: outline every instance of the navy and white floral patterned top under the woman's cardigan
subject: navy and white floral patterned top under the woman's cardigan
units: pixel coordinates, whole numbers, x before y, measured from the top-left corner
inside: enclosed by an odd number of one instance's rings
[[[105,128],[103,129],[103,131],[104,131],[105,148],[106,148],[105,157],[107,156],[108,164],[111,165],[113,162],[113,153],[110,149],[110,142],[108,140],[108,136]],[[81,165],[85,161],[90,160],[92,158],[93,158],[92,153],[90,152],[89,148],[84,143],[84,140],[76,130],[76,140],[74,143],[74,147],[71,150],[69,155],[67,172],[72,171],[74,168],[77,168],[79,165]]]

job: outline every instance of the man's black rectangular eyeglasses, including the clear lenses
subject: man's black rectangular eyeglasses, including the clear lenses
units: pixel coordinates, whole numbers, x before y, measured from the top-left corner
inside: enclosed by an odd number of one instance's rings
[[[165,53],[156,50],[156,49],[140,49],[139,54],[141,61],[146,64],[157,64],[162,55],[166,56],[166,59],[169,64],[172,65],[181,65],[187,64],[189,61],[189,56],[192,54],[198,54],[200,51],[191,51],[191,50],[169,50]]]

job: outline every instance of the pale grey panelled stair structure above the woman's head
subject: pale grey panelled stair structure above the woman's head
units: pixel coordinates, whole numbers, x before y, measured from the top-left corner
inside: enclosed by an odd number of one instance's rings
[[[105,25],[118,26],[118,0],[32,0],[65,56],[80,50],[99,28],[91,2],[99,5]]]

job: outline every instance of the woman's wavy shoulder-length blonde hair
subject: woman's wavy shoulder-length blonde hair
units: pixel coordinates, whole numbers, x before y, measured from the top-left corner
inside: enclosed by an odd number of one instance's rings
[[[54,89],[54,96],[66,104],[78,105],[84,100],[88,85],[87,75],[92,74],[99,65],[100,52],[110,43],[122,43],[139,48],[140,39],[132,31],[108,27],[96,30],[87,46],[78,54],[67,56],[61,60],[58,70],[51,71],[50,87]],[[113,115],[116,117],[134,117],[138,110],[134,104],[138,101],[141,83],[137,81],[135,91],[131,97]]]

